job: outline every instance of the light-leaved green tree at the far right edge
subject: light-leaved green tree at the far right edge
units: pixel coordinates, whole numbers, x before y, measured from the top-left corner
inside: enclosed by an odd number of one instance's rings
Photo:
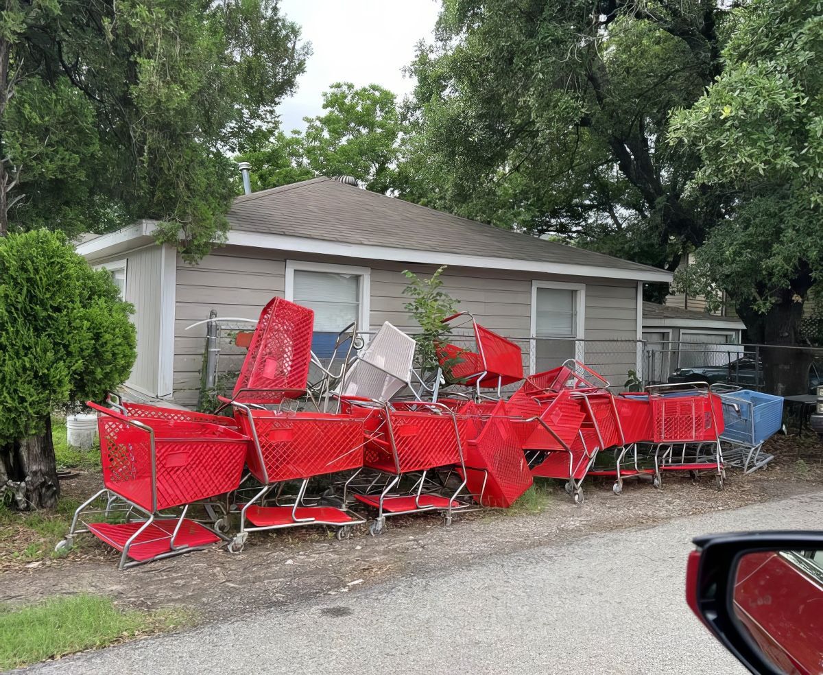
[[[754,337],[799,344],[823,277],[823,2],[756,0],[736,19],[723,74],[672,120],[672,147],[700,154],[687,192],[733,196],[695,252],[689,290],[715,306],[726,291]],[[774,350],[769,361],[767,384],[806,389],[807,359]]]

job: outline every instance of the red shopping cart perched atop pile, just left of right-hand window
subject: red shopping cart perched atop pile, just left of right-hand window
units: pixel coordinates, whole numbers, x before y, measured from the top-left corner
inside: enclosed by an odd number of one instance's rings
[[[523,352],[511,340],[478,324],[469,312],[453,314],[443,323],[453,324],[460,317],[467,317],[472,324],[475,351],[442,343],[437,347],[441,368],[459,384],[477,388],[478,397],[481,389],[497,389],[497,398],[501,398],[502,387],[523,379]]]

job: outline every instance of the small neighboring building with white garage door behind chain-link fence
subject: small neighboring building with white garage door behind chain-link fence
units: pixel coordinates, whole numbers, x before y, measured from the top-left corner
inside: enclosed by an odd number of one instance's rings
[[[725,365],[742,354],[746,326],[736,317],[643,303],[644,370],[649,382],[666,382],[677,368]]]

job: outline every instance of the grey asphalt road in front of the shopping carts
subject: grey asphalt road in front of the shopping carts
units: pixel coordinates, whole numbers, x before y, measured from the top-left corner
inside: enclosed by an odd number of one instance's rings
[[[745,673],[686,607],[684,570],[692,536],[756,528],[823,528],[823,493],[355,586],[30,672]]]

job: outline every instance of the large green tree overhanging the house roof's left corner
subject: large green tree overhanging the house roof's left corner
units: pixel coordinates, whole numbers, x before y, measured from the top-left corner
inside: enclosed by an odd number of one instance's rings
[[[277,123],[299,38],[276,0],[4,0],[0,235],[153,218],[198,258],[225,235],[226,151]]]

